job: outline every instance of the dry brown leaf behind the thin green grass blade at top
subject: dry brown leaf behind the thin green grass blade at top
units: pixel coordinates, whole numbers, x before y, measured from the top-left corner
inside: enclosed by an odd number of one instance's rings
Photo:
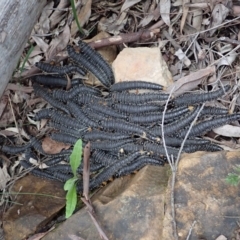
[[[81,27],[84,26],[85,23],[88,22],[91,12],[92,12],[92,0],[83,0],[81,2],[83,5],[80,11],[78,12],[78,22]],[[71,26],[71,36],[75,36],[76,33],[78,32],[78,26],[76,21],[72,23]]]

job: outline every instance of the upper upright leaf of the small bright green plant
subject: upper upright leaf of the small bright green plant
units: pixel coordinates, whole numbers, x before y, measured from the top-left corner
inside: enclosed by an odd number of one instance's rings
[[[80,166],[81,161],[82,161],[82,140],[79,139],[75,143],[72,154],[70,156],[70,165],[74,176],[77,175],[77,168]]]

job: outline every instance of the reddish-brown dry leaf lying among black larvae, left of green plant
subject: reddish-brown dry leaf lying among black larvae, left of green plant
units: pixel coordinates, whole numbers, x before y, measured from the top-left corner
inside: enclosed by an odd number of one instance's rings
[[[60,153],[63,149],[69,149],[70,145],[45,137],[42,141],[42,148],[48,154],[56,154]]]

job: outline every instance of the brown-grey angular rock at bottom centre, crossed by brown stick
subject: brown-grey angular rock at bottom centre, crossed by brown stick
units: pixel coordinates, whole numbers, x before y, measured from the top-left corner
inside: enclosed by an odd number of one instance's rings
[[[161,239],[168,173],[169,166],[146,166],[135,175],[115,179],[92,198],[109,239]],[[68,240],[69,234],[100,239],[85,208],[43,239]]]

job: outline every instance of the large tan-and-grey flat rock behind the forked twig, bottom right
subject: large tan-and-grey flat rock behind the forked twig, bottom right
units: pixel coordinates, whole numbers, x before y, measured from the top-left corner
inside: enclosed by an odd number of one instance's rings
[[[179,163],[175,185],[175,212],[179,240],[186,239],[194,221],[190,240],[216,239],[223,234],[233,239],[239,229],[240,188],[225,178],[239,164],[240,152],[196,152]],[[174,239],[171,223],[170,181],[162,239]]]

